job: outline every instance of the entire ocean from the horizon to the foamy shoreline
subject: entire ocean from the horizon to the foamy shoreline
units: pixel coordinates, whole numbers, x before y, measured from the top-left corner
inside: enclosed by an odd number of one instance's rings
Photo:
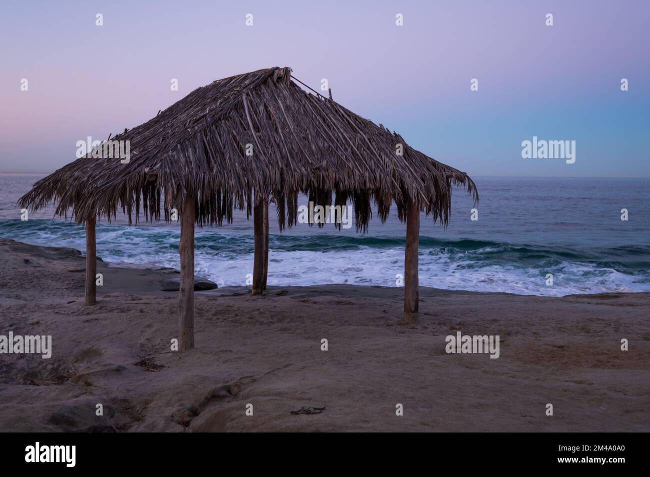
[[[19,196],[42,175],[0,174],[0,237],[85,249],[82,226],[52,209],[20,220]],[[650,291],[650,179],[474,177],[473,203],[454,190],[447,229],[421,216],[420,284],[450,290],[564,296]],[[305,198],[299,205],[306,204]],[[629,220],[621,220],[627,209]],[[406,226],[396,210],[369,232],[298,224],[279,233],[270,207],[269,285],[351,283],[396,286],[403,273]],[[196,272],[220,286],[244,285],[253,269],[252,220],[196,231]],[[129,227],[99,222],[105,261],[179,267],[179,224]],[[546,285],[546,275],[553,285]]]

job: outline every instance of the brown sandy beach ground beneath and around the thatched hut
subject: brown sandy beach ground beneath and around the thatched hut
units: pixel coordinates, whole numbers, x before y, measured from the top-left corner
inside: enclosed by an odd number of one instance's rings
[[[177,292],[161,290],[174,272],[99,261],[86,307],[79,251],[0,239],[0,262],[0,334],[53,348],[0,355],[0,431],[650,430],[650,293],[422,287],[407,326],[397,287],[225,287],[196,292],[181,354]],[[499,359],[447,354],[456,331],[499,335]]]

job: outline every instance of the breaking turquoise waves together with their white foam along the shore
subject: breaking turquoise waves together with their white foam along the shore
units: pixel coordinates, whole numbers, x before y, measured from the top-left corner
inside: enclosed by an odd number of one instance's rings
[[[0,220],[0,237],[84,250],[85,229],[57,220]],[[98,255],[107,261],[178,267],[177,226],[98,225]],[[280,285],[394,284],[404,238],[390,235],[272,234],[270,270]],[[198,272],[238,285],[252,268],[250,229],[196,232]],[[450,289],[564,294],[650,290],[650,246],[571,248],[502,241],[420,237],[421,283]],[[552,273],[564,288],[540,289]],[[562,277],[562,278],[560,278]]]

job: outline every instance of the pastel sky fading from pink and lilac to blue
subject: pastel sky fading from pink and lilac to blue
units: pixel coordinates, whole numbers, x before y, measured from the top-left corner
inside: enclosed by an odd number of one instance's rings
[[[3,0],[0,172],[52,172],[198,86],[290,66],[470,175],[650,177],[649,18],[641,0]],[[575,164],[522,159],[532,136],[575,140]]]

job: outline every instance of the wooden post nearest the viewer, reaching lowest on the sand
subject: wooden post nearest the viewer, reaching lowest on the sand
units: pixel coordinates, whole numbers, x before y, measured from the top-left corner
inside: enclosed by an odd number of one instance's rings
[[[194,196],[187,194],[181,211],[181,286],[179,287],[178,350],[194,348]]]

